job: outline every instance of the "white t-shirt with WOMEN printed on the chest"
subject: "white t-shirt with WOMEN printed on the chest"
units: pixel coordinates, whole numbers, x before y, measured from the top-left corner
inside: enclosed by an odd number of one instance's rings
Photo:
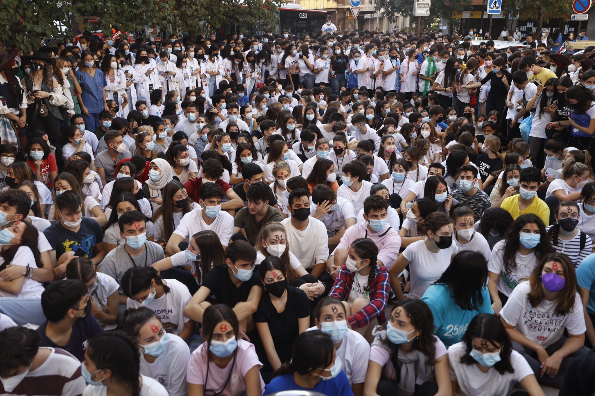
[[[160,298],[154,298],[147,307],[155,311],[163,328],[168,333],[180,335],[184,324],[190,319],[184,316],[184,307],[192,298],[186,285],[176,279],[163,279],[164,284],[170,288],[170,293],[164,293]],[[126,308],[140,308],[139,301],[128,298]]]

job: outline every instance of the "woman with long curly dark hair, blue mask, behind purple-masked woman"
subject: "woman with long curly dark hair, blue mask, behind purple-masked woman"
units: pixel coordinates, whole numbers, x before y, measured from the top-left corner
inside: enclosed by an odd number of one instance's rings
[[[494,245],[487,266],[487,288],[495,315],[500,314],[518,282],[528,278],[552,251],[546,227],[536,215],[522,215],[511,224],[505,238]]]

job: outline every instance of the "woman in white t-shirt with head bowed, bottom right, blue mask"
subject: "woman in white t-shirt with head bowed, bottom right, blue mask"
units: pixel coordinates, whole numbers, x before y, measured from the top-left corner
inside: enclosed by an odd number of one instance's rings
[[[475,316],[463,340],[448,349],[452,389],[461,396],[544,396],[533,370],[512,349],[497,316]],[[513,386],[521,385],[524,391]]]

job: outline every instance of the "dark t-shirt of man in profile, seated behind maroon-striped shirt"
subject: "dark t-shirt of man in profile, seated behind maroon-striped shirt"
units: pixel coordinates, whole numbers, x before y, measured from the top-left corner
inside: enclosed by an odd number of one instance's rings
[[[73,354],[74,357],[79,359],[81,362],[84,360],[84,350],[87,348],[87,342],[89,342],[89,338],[93,337],[93,335],[104,332],[104,329],[99,326],[95,316],[91,315],[91,313],[88,313],[86,316],[84,316],[84,318],[80,318],[74,322],[73,331],[70,335],[70,342],[68,342],[67,345],[58,345],[55,344],[54,341],[50,340],[47,335],[45,335],[45,328],[47,325],[48,321],[46,320],[41,326],[37,328],[37,333],[39,333],[39,337],[41,338],[39,346],[62,348],[63,350]]]

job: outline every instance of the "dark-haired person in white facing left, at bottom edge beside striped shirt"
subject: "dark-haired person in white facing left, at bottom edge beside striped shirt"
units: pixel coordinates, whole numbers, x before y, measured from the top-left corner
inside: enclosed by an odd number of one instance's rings
[[[111,395],[122,389],[130,395],[168,396],[159,381],[140,374],[139,345],[123,331],[89,340],[80,371],[89,384],[85,396]]]

